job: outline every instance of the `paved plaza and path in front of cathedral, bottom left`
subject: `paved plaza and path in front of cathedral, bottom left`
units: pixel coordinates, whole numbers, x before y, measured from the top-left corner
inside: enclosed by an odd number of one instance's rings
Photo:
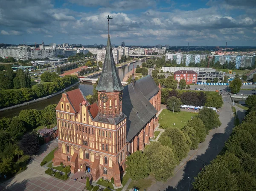
[[[26,171],[17,174],[10,180],[0,184],[0,191],[82,191],[85,185],[69,179],[66,182],[44,174],[46,168],[40,163],[44,157],[58,146],[52,141],[41,147],[40,154],[36,155],[28,165]]]

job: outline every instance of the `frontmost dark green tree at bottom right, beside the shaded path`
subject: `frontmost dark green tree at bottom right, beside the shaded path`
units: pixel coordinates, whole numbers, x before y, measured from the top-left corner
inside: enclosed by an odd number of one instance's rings
[[[238,191],[236,175],[219,163],[206,166],[192,184],[198,191]]]

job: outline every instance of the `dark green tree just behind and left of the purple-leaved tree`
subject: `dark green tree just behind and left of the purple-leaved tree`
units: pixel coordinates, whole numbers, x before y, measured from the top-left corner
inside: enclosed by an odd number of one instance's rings
[[[12,122],[6,131],[8,131],[15,140],[19,140],[26,132],[26,127],[23,121],[19,117],[15,116],[12,118]]]

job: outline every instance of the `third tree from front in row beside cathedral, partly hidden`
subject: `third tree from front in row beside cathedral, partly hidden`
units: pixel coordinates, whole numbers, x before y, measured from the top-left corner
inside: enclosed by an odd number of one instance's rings
[[[187,144],[187,138],[180,129],[167,128],[166,131],[162,133],[162,136],[170,137],[179,160],[182,160],[187,156],[190,147]]]

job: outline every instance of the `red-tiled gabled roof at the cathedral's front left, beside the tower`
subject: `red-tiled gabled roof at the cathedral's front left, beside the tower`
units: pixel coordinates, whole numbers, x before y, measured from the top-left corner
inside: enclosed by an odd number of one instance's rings
[[[66,92],[67,94],[67,99],[70,101],[72,104],[73,108],[75,109],[76,112],[79,111],[80,109],[80,103],[85,101],[84,94],[80,91],[80,89],[74,89],[72,91]]]

